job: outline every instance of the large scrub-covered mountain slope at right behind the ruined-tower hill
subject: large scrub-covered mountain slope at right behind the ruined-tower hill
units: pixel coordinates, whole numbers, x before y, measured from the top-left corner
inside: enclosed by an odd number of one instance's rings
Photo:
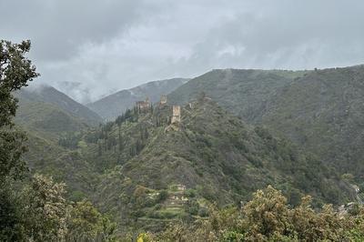
[[[364,66],[307,72],[214,70],[178,87],[186,103],[204,91],[252,124],[268,126],[364,187]]]

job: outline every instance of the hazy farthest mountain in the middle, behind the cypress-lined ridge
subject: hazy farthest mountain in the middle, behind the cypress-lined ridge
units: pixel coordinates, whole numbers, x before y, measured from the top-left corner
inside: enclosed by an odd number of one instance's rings
[[[187,81],[188,79],[186,78],[173,78],[149,82],[131,89],[119,91],[86,106],[94,110],[99,116],[112,120],[125,112],[126,108],[133,107],[136,101],[145,100],[146,97],[149,97],[151,102],[157,102],[160,96],[169,94]]]

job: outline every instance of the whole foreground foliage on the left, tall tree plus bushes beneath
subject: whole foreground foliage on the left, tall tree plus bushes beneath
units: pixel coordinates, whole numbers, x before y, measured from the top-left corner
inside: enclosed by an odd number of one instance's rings
[[[13,92],[38,76],[29,50],[30,41],[0,40],[0,241],[111,241],[115,225],[89,202],[68,203],[65,184],[41,175],[23,180],[26,136],[13,123]]]

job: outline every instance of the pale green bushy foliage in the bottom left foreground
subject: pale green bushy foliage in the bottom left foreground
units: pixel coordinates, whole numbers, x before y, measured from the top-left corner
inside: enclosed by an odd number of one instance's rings
[[[9,195],[15,206],[2,204],[1,209],[12,223],[4,227],[6,221],[1,221],[0,241],[115,240],[116,225],[108,217],[88,201],[66,201],[65,184],[50,177],[35,174],[29,184]]]

